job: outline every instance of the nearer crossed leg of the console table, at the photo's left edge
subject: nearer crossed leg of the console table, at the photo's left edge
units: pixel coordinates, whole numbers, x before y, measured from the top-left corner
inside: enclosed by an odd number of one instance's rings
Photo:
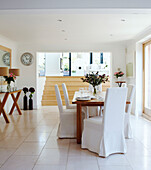
[[[5,121],[6,121],[6,123],[9,123],[9,119],[7,117],[7,114],[6,114],[5,110],[4,110],[4,106],[5,106],[5,103],[6,103],[7,99],[8,99],[8,96],[9,96],[9,93],[5,93],[3,101],[0,102],[0,114],[1,113],[3,114],[3,117],[4,117]]]

